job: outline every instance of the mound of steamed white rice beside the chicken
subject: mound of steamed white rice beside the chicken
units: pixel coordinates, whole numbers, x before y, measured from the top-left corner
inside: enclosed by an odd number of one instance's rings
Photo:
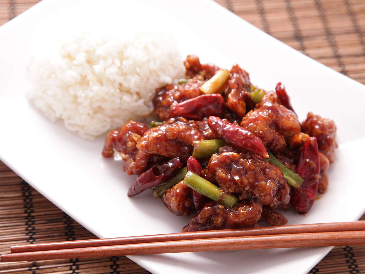
[[[47,41],[28,65],[28,98],[51,121],[93,140],[153,110],[155,88],[184,75],[173,39],[157,32],[77,31]]]

